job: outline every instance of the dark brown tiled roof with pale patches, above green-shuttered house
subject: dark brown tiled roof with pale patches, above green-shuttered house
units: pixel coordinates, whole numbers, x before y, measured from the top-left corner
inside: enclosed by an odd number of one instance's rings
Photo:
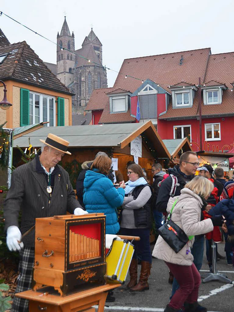
[[[2,53],[8,53],[8,56],[0,65],[1,79],[17,79],[26,84],[71,94],[26,41],[0,47],[0,54]]]

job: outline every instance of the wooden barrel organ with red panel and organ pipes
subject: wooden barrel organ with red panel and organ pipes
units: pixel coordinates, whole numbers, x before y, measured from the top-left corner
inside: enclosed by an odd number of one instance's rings
[[[36,218],[33,290],[60,295],[105,284],[105,216],[90,213]]]

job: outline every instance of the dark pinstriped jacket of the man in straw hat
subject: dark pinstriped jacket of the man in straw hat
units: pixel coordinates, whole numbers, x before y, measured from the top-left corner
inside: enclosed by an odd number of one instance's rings
[[[12,183],[4,202],[5,229],[19,227],[18,217],[22,211],[20,231],[23,234],[35,224],[35,218],[65,215],[81,207],[76,200],[66,170],[58,166],[54,178],[52,196],[46,192],[45,174],[36,171],[36,158],[12,171]],[[35,246],[35,230],[23,238],[24,246]]]

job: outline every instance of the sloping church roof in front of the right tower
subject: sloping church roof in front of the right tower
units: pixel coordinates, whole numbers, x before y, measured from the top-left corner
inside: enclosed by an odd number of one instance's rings
[[[100,59],[97,57],[91,43],[83,46],[79,50],[76,50],[75,53],[87,58],[90,61],[94,61],[96,63],[96,64],[94,64],[94,63],[89,62],[89,61],[83,59],[82,57],[76,55],[76,67],[80,67],[83,65],[102,66]]]

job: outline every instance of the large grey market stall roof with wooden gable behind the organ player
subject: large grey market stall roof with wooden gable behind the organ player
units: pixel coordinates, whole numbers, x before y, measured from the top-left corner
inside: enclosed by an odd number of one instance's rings
[[[99,124],[84,126],[41,127],[30,133],[23,134],[14,140],[14,147],[28,147],[30,143],[41,146],[40,139],[46,139],[48,133],[53,133],[70,142],[71,148],[82,147],[119,147],[123,149],[134,138],[145,133],[158,152],[158,157],[171,158],[168,149],[160,138],[151,121],[132,124]]]

